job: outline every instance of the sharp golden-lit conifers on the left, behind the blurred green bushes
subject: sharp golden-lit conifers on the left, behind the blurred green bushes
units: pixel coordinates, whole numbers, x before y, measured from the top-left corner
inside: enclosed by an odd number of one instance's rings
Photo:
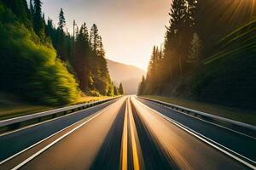
[[[64,22],[63,20],[62,11],[60,23]],[[52,20],[48,20],[46,35],[52,39],[60,58],[72,65],[73,69],[69,66],[68,70],[76,75],[79,88],[86,94],[97,91],[101,95],[112,95],[112,82],[108,73],[102,37],[98,34],[97,26],[92,26],[89,35],[84,23],[80,26],[75,38],[61,31],[63,30],[61,26],[55,29]]]

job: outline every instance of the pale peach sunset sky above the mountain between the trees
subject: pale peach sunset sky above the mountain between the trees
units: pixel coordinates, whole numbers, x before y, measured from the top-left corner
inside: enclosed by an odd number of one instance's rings
[[[43,0],[45,18],[58,23],[63,8],[67,29],[94,23],[102,36],[106,57],[147,70],[154,45],[164,42],[172,0]]]

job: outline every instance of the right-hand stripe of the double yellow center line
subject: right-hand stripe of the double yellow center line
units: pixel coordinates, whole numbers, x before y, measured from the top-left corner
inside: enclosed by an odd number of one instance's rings
[[[131,148],[132,148],[132,157],[133,157],[133,168],[134,170],[139,170],[140,169],[140,163],[139,163],[139,158],[138,158],[138,152],[137,152],[137,143],[136,143],[136,138],[135,138],[135,122],[132,116],[131,112],[131,100],[130,98],[128,99],[128,113],[129,113],[129,123],[131,127]]]

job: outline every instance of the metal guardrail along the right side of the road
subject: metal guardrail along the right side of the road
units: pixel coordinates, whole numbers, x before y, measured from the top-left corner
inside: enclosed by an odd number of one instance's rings
[[[237,122],[237,121],[230,120],[228,118],[224,118],[224,117],[221,117],[221,116],[215,116],[215,115],[205,113],[205,112],[202,112],[202,111],[196,111],[196,110],[189,109],[187,107],[183,107],[183,106],[180,106],[180,105],[174,105],[174,104],[166,103],[166,102],[159,101],[159,100],[156,100],[156,99],[148,99],[148,98],[144,98],[144,97],[140,97],[140,96],[137,96],[137,97],[140,98],[140,99],[146,99],[148,101],[152,101],[152,102],[160,104],[160,105],[165,105],[165,106],[171,108],[174,111],[179,111],[179,112],[188,114],[190,116],[196,116],[196,117],[201,118],[201,119],[203,119],[207,122],[213,122],[213,123],[216,123],[216,124],[221,125],[223,127],[229,127],[230,129],[236,130],[239,133],[244,133],[244,134],[247,134],[247,135],[249,135],[253,138],[256,138],[256,127],[253,126],[253,125],[249,125],[249,124],[243,123],[243,122]]]

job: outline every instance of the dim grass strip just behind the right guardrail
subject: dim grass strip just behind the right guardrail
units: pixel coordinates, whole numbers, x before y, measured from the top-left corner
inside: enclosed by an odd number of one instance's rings
[[[256,125],[256,111],[245,111],[241,109],[234,109],[222,105],[212,105],[192,100],[177,99],[172,97],[161,97],[154,95],[143,95],[142,97],[149,99],[157,99],[166,103],[180,105],[196,111],[203,111],[215,116],[222,116],[238,122],[245,122],[247,124]]]

